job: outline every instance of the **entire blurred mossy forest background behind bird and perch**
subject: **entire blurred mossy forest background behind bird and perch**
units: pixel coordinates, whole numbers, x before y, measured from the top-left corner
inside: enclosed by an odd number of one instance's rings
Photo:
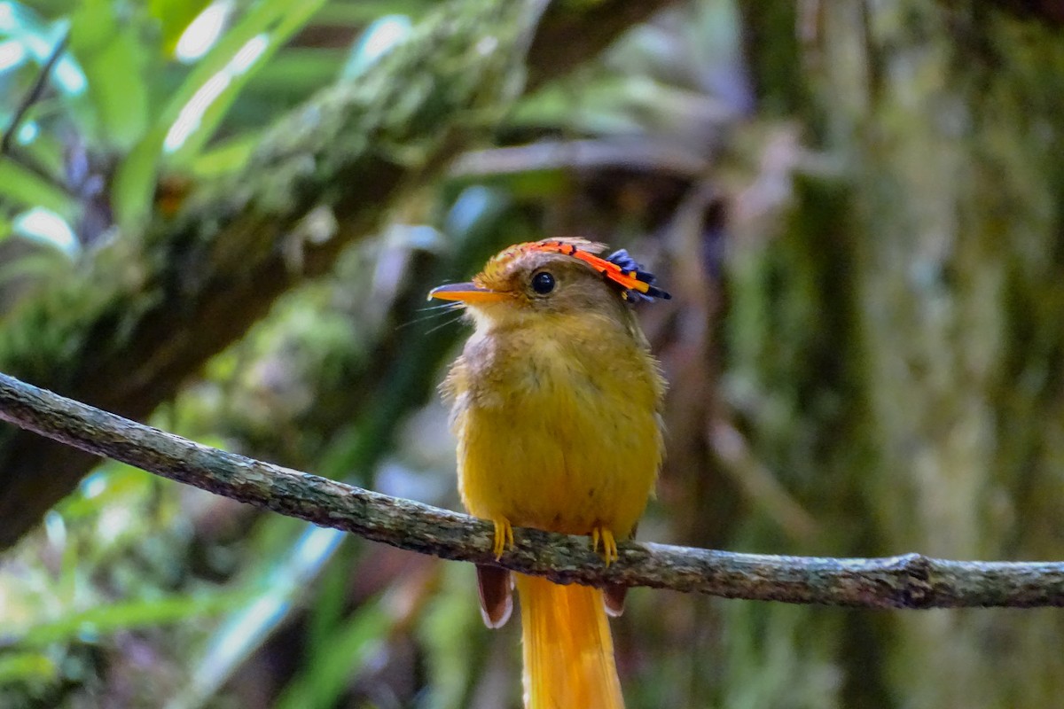
[[[1064,17],[1015,4],[0,2],[0,130],[68,36],[0,156],[0,370],[456,507],[467,331],[425,294],[582,235],[674,293],[641,308],[671,383],[641,538],[1060,559]],[[10,427],[0,545],[4,707],[519,703],[467,565]],[[632,709],[1064,676],[1053,609],[630,597]]]

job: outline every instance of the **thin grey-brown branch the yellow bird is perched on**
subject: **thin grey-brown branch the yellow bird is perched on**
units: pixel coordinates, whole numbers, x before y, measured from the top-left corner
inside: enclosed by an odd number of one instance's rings
[[[0,418],[156,475],[445,559],[496,563],[492,525],[211,449],[0,374]],[[628,542],[606,569],[587,539],[516,529],[498,565],[560,583],[864,608],[1064,606],[1064,562],[768,556]]]

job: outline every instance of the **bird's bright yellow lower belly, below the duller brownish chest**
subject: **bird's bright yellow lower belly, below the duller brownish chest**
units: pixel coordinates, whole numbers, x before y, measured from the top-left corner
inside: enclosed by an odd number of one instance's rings
[[[460,407],[466,508],[515,526],[629,536],[661,457],[656,417],[632,402],[630,385],[559,376]]]

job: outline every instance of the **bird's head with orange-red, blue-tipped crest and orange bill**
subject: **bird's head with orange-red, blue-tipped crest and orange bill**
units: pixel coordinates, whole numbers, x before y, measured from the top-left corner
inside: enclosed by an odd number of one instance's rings
[[[597,254],[604,249],[578,238],[518,243],[492,257],[471,282],[433,288],[429,297],[468,306],[478,322],[535,314],[612,314],[626,301],[669,298],[628,252],[602,258]]]

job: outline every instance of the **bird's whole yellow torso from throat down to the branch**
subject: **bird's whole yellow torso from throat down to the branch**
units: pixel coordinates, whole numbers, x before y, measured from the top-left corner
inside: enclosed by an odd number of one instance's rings
[[[662,458],[664,383],[636,331],[558,316],[477,333],[446,384],[478,517],[627,537]]]

